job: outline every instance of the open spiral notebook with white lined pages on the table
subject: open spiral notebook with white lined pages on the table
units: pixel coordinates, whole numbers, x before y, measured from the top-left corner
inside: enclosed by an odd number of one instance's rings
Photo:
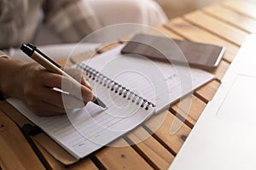
[[[121,48],[74,65],[87,71],[94,93],[108,109],[88,103],[64,116],[41,117],[18,99],[8,101],[79,159],[129,132],[154,113],[166,110],[172,102],[213,78],[197,69],[190,70],[190,77],[180,78],[177,70],[183,71],[182,67],[123,56]],[[190,82],[191,88],[181,89],[181,82]]]

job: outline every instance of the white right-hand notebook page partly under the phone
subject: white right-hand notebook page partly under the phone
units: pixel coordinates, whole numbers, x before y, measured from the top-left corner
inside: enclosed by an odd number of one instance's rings
[[[155,113],[167,109],[183,95],[189,94],[214,78],[212,74],[200,69],[186,69],[180,65],[172,66],[140,57],[129,57],[128,54],[122,55],[120,51],[124,46],[120,45],[107,53],[88,59],[84,64],[90,65],[126,88],[137,90],[143,98],[156,105]],[[124,70],[132,76],[121,74],[120,77],[116,77]],[[181,75],[183,77],[180,77]]]

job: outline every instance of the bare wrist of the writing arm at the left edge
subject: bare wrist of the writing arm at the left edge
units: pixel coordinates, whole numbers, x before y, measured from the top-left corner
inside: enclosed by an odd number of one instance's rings
[[[19,83],[22,82],[19,77],[20,71],[26,63],[14,59],[0,57],[0,93],[3,97],[20,98]]]

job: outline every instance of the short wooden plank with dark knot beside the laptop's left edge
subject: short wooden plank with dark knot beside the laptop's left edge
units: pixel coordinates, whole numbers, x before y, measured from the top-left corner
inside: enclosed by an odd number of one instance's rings
[[[164,122],[162,122],[164,120]],[[177,132],[171,134],[172,123],[177,122]],[[160,125],[161,123],[161,125]],[[151,117],[145,122],[145,127],[154,132],[154,138],[157,139],[167,150],[176,155],[183,145],[184,139],[189,135],[191,129],[179,121],[172,113],[165,111]],[[151,132],[152,133],[152,132]]]

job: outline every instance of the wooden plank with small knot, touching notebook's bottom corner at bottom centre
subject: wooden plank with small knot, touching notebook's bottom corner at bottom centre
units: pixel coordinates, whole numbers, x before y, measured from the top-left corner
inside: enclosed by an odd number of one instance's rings
[[[125,139],[117,139],[112,145],[112,147],[105,147],[95,154],[96,158],[107,169],[137,169],[138,167],[140,169],[153,169],[131,146],[114,147],[127,145]]]

